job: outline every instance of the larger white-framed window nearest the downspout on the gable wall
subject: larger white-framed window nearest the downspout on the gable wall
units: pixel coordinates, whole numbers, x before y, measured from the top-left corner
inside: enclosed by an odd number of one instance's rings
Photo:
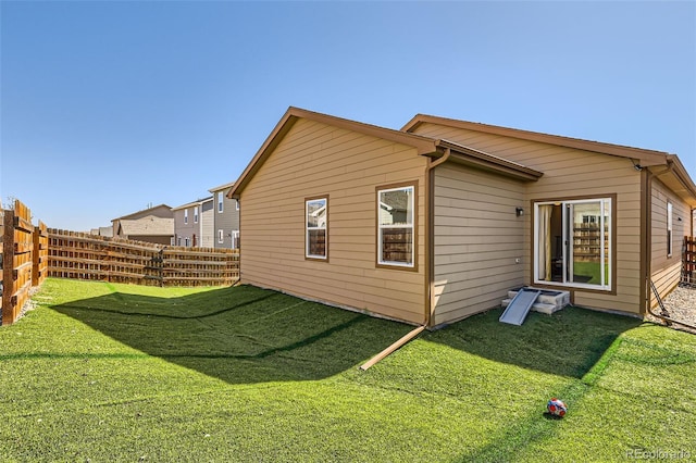
[[[377,189],[377,264],[414,267],[415,186]]]

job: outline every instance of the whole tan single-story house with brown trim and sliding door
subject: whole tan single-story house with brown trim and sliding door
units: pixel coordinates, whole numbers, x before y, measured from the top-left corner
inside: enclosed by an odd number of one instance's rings
[[[229,191],[241,283],[434,327],[524,285],[641,316],[680,278],[696,186],[660,151],[290,108]]]

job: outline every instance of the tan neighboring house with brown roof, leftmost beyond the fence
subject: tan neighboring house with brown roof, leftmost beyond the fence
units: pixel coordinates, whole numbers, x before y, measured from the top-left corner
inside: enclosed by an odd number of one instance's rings
[[[111,221],[115,238],[171,245],[174,215],[166,204],[156,205]]]

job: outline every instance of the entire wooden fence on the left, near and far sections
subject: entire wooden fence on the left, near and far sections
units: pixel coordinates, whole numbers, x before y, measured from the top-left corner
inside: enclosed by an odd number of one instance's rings
[[[47,276],[150,286],[225,286],[239,279],[239,250],[184,248],[32,225],[21,201],[0,209],[1,325],[14,323]]]

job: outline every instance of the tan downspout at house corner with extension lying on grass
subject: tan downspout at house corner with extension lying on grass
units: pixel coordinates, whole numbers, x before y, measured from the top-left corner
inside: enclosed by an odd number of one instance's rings
[[[432,310],[435,306],[435,241],[434,241],[434,229],[435,229],[435,167],[447,162],[451,151],[449,148],[445,149],[445,153],[436,161],[433,161],[431,158],[427,160],[427,165],[425,166],[425,253],[427,264],[425,266],[425,283],[426,283],[426,291],[425,291],[425,314],[423,324],[417,328],[413,328],[411,331],[407,333],[391,346],[370,359],[368,362],[360,365],[360,370],[365,371],[370,368],[375,363],[385,359],[389,354],[391,354],[397,349],[401,348],[412,339],[414,339],[418,335],[423,333],[425,328],[431,325],[432,320]]]

